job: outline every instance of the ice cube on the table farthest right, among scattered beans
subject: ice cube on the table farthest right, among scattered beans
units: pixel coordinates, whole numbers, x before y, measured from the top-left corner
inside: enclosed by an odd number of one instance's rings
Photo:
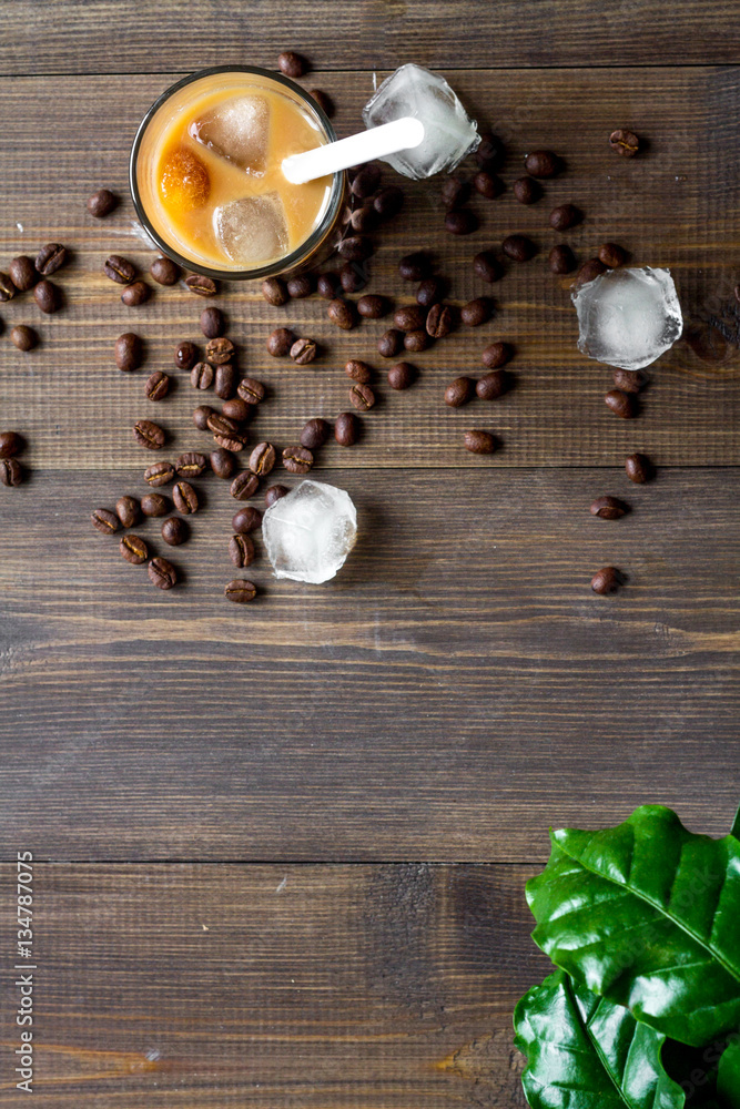
[[[681,306],[668,269],[609,269],[572,294],[578,349],[620,369],[642,369],[683,330]]]

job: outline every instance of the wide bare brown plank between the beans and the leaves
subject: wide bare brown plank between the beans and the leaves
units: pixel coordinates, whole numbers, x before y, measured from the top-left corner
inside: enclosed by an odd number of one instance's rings
[[[549,825],[738,800],[740,471],[325,474],[361,538],[230,606],[230,501],[162,594],[88,513],[135,474],[0,490],[0,848],[40,858],[541,861]],[[632,512],[592,518],[594,497]],[[257,541],[257,546],[260,543]],[[629,584],[591,593],[600,566]]]

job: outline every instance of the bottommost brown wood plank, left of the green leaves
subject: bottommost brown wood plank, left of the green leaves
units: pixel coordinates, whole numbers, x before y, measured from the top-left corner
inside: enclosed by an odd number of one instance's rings
[[[36,865],[34,1103],[524,1106],[511,1013],[548,968],[529,875]]]

